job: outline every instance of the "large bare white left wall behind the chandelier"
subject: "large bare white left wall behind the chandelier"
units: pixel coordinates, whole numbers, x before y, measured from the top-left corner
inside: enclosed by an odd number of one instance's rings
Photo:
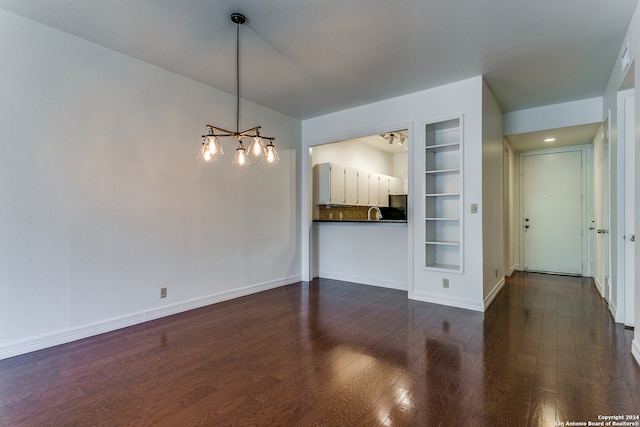
[[[205,166],[234,96],[3,11],[0,56],[0,358],[300,279],[298,120]]]

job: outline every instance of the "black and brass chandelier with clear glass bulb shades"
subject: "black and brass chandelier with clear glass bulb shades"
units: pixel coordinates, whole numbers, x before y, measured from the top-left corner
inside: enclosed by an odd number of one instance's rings
[[[204,142],[200,157],[205,162],[218,159],[224,152],[220,144],[221,137],[231,136],[238,141],[233,164],[244,166],[249,164],[249,156],[262,159],[266,163],[276,163],[278,153],[273,145],[274,138],[260,135],[260,126],[240,131],[240,25],[247,21],[240,13],[231,14],[231,22],[236,24],[236,130],[230,131],[217,126],[207,125],[208,132],[202,135]],[[243,139],[250,139],[249,147],[244,148]]]

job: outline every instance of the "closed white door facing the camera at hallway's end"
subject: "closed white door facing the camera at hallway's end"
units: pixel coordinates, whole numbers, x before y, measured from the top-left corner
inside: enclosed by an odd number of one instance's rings
[[[582,274],[582,151],[525,154],[524,266],[528,271]]]

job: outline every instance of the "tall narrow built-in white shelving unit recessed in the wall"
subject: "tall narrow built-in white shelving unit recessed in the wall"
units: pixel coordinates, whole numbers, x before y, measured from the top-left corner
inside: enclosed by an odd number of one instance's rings
[[[462,118],[430,123],[425,138],[425,267],[462,271]]]

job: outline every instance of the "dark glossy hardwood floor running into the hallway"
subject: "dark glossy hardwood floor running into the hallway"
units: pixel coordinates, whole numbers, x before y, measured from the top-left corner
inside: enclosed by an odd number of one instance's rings
[[[0,426],[553,426],[640,414],[591,279],[515,273],[481,313],[331,280],[0,361]]]

